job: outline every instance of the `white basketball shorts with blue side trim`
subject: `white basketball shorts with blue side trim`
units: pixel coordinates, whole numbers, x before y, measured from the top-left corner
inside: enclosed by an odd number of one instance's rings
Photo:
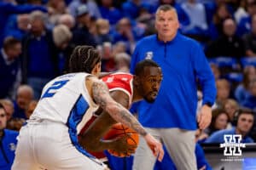
[[[30,122],[20,129],[12,170],[104,170],[101,161],[72,142],[68,127],[58,122]]]

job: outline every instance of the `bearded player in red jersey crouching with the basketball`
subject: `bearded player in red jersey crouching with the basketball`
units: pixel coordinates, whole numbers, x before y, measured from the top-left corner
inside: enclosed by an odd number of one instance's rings
[[[160,89],[162,72],[160,66],[153,60],[145,59],[137,64],[134,76],[129,73],[117,72],[102,77],[102,81],[108,85],[112,98],[128,109],[132,102],[142,99],[149,103],[154,102]],[[96,152],[108,150],[111,142],[102,142],[102,137],[116,122],[102,109],[96,111],[95,115],[91,122],[87,123],[81,131],[84,135],[84,140],[81,142],[85,145],[86,150]],[[126,144],[125,137],[122,141],[111,148],[126,156],[130,156],[135,152],[135,146]]]

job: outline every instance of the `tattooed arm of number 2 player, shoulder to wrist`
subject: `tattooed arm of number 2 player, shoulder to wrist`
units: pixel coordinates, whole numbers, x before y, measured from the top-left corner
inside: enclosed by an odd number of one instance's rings
[[[99,104],[104,111],[107,111],[116,122],[121,122],[127,127],[131,127],[142,136],[146,136],[147,132],[137,121],[135,116],[125,109],[122,105],[115,102],[108,93],[108,87],[104,82],[92,82],[92,95],[96,103]]]

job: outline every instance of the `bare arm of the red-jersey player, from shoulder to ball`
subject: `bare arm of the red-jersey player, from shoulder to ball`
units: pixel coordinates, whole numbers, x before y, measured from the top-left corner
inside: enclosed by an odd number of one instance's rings
[[[129,107],[130,98],[123,91],[114,90],[110,92],[110,95],[116,102],[123,105],[125,108]],[[132,146],[126,146],[126,139],[103,139],[104,134],[108,132],[109,128],[112,127],[112,125],[116,123],[116,121],[113,120],[112,116],[110,116],[107,111],[102,111],[102,108],[99,108],[96,113],[96,115],[98,115],[96,120],[90,124],[90,126],[86,129],[86,131],[84,131],[84,133],[79,134],[79,143],[86,150],[91,151],[115,149],[119,150],[119,152],[123,151],[123,153],[128,153],[129,151],[131,152]]]

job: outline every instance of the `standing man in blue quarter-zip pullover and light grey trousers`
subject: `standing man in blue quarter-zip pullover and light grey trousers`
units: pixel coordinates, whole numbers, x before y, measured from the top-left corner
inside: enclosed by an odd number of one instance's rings
[[[177,12],[171,5],[156,11],[157,35],[137,42],[131,58],[131,72],[137,62],[153,59],[163,71],[160,93],[154,104],[142,102],[138,108],[139,122],[148,132],[163,141],[177,169],[195,170],[195,129],[197,81],[202,88],[202,108],[197,117],[199,127],[205,129],[212,118],[212,104],[216,87],[211,68],[201,45],[177,30]],[[140,139],[133,169],[153,169],[154,156]]]

